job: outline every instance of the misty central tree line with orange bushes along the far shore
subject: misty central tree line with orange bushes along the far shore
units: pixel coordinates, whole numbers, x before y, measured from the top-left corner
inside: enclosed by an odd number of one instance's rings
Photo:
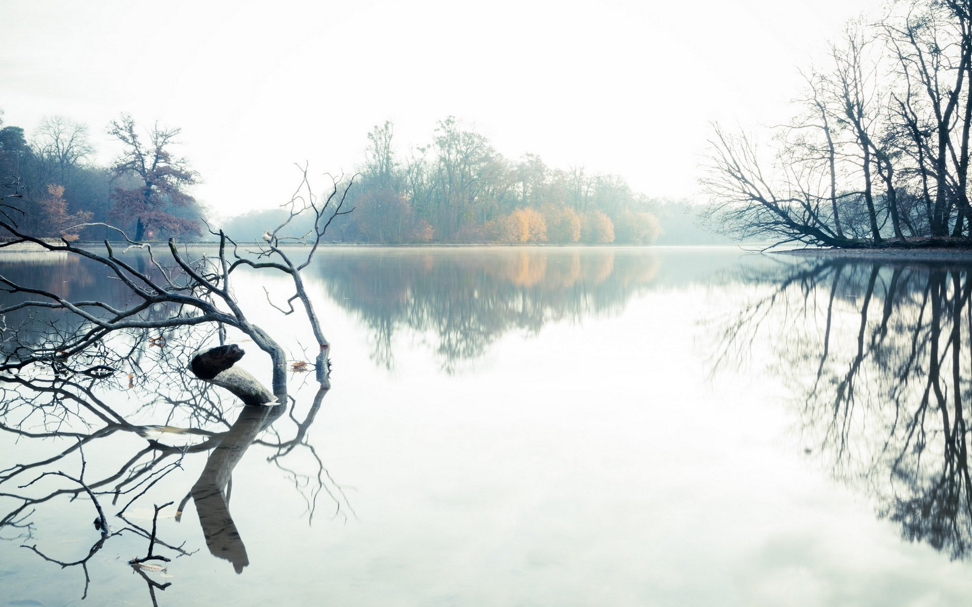
[[[554,169],[536,154],[510,160],[461,120],[437,122],[431,142],[402,153],[395,125],[367,134],[349,192],[354,213],[335,221],[331,241],[364,243],[655,242],[657,203],[615,175]],[[228,231],[259,236],[279,216],[256,211]]]

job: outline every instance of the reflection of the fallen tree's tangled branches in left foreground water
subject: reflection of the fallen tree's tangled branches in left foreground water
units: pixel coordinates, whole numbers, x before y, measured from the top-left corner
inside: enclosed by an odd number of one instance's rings
[[[2,270],[15,279],[18,272],[43,276],[49,290],[76,299],[114,301],[126,296],[123,288],[113,290],[112,283],[106,289],[104,280],[96,285],[99,281],[87,273],[84,263],[69,259],[49,255],[18,260]],[[5,304],[12,305],[11,300]],[[160,319],[172,313],[157,307],[146,314]],[[6,320],[19,329],[16,339],[0,345],[0,354],[8,361],[17,359],[18,349],[56,344],[75,330],[58,311],[17,311]],[[8,456],[0,470],[0,539],[16,541],[61,568],[81,569],[84,590],[80,593],[85,597],[91,558],[113,538],[141,536],[146,545],[154,541],[155,552],[166,557],[194,554],[187,548],[194,534],[174,541],[166,537],[171,531],[154,533],[131,514],[171,501],[179,503],[178,521],[191,498],[209,551],[242,572],[249,561],[229,510],[231,477],[254,445],[292,478],[304,494],[309,517],[322,492],[333,498],[343,516],[348,507],[343,493],[330,481],[307,439],[328,389],[322,385],[310,398],[301,389],[289,402],[276,406],[237,408],[236,400],[222,396],[220,388],[210,388],[187,373],[191,355],[219,340],[217,327],[126,329],[92,345],[84,355],[54,356],[49,363],[36,364],[30,373],[4,373],[0,431],[13,439],[7,444],[16,441],[17,463]],[[125,371],[130,373],[126,376]],[[313,381],[307,384],[305,388],[317,387]],[[239,416],[232,421],[236,413]],[[269,430],[271,423],[274,427]],[[205,464],[194,483],[177,478],[193,463],[191,459],[203,455]],[[97,522],[93,532],[99,537],[83,554],[56,554],[63,547],[52,539],[51,522],[74,519],[63,514],[68,508],[85,516],[89,512],[94,518],[96,504],[104,511],[108,528]],[[38,532],[41,526],[46,532]],[[156,590],[169,584],[153,579],[152,568],[136,571],[155,603]]]

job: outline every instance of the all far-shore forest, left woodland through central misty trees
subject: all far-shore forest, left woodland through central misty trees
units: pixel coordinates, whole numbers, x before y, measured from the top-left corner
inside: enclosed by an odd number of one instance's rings
[[[146,128],[121,115],[108,132],[122,152],[99,166],[85,124],[44,118],[29,135],[0,127],[3,211],[23,233],[102,240],[119,236],[112,225],[136,241],[204,241],[222,228],[253,242],[288,217],[285,205],[213,218],[191,193],[200,176],[177,155],[178,128]],[[552,168],[536,154],[510,160],[458,118],[439,120],[431,141],[406,153],[391,121],[366,142],[357,171],[338,180],[352,185],[354,212],[334,220],[329,242],[648,245],[666,243],[668,231],[679,242],[713,240],[686,201],[652,199],[619,176],[580,166]],[[282,235],[308,229],[295,220]]]

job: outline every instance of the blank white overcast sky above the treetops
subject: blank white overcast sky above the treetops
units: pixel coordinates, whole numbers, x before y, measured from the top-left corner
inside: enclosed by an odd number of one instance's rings
[[[183,129],[222,215],[349,171],[392,119],[399,149],[453,115],[511,159],[583,165],[691,196],[709,122],[774,123],[828,38],[879,0],[0,0],[0,109],[28,135],[121,112]],[[319,188],[326,184],[318,178]]]

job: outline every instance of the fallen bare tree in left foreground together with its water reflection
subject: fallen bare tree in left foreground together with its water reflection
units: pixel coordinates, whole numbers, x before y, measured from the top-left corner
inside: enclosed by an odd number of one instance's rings
[[[40,247],[58,253],[58,258],[95,268],[107,277],[99,280],[107,280],[109,285],[102,291],[109,295],[71,297],[70,280],[61,280],[61,276],[26,273],[15,280],[0,275],[0,292],[4,293],[0,303],[0,431],[15,435],[17,440],[60,441],[66,445],[58,447],[61,451],[55,455],[0,470],[0,530],[10,533],[5,537],[28,542],[34,535],[34,513],[38,509],[52,507],[61,497],[71,501],[89,497],[99,513],[95,528],[100,538],[87,558],[53,560],[45,556],[43,547],[24,544],[62,567],[82,568],[85,595],[88,559],[122,532],[150,540],[145,558],[161,556],[153,551],[188,556],[191,551],[184,550],[183,544],[167,543],[159,537],[165,535],[163,529],[156,531],[161,507],[156,508],[151,531],[133,522],[130,513],[134,509],[129,507],[157,492],[159,482],[182,469],[184,458],[208,454],[203,472],[179,505],[176,517],[193,498],[210,551],[228,558],[238,572],[242,570],[247,564],[246,550],[228,511],[233,469],[242,455],[258,444],[273,452],[267,461],[292,473],[280,461],[299,447],[309,449],[307,428],[330,389],[330,342],[301,271],[314,259],[330,221],[350,212],[343,207],[348,187],[350,184],[339,189],[334,182],[329,195],[319,202],[305,173],[301,188],[285,205],[289,219],[268,230],[264,244],[245,251],[218,231],[214,232],[219,238],[218,249],[198,254],[180,248],[173,240],[159,251],[155,244],[136,242],[115,228],[121,245],[105,241],[103,248],[97,249],[37,239],[18,231],[0,200],[0,228],[12,235],[0,242],[0,251],[23,244]],[[291,220],[305,214],[311,215],[313,229],[302,239],[295,239],[303,248],[285,248],[291,241],[278,234]],[[138,254],[129,254],[133,250]],[[296,254],[300,258],[295,258]],[[71,279],[70,269],[65,272],[63,278]],[[292,290],[284,295],[287,298],[274,301],[267,292],[266,303],[284,316],[299,310],[302,314],[295,316],[309,325],[316,346],[308,358],[315,362],[299,361],[298,369],[316,372],[319,386],[309,408],[306,399],[298,403],[288,387],[288,372],[297,369],[289,363],[285,350],[289,341],[295,341],[293,335],[284,335],[278,341],[251,320],[260,313],[248,311],[247,302],[237,299],[234,287],[239,287],[235,281],[242,276],[239,272],[277,273],[290,279]],[[281,292],[279,286],[273,288],[274,296]],[[262,321],[265,317],[259,318]],[[244,351],[229,342],[237,339],[251,340],[269,356],[266,375],[270,388],[236,364]],[[262,376],[259,372],[256,375]],[[221,399],[222,390],[212,386],[226,388],[247,405],[235,421],[227,419],[231,409]],[[120,405],[125,400],[134,403],[134,408]],[[260,432],[285,411],[289,412],[287,420],[296,426],[294,437],[285,439],[284,432],[274,428],[272,436],[257,440]],[[157,422],[146,424],[146,415]],[[121,449],[136,447],[132,455],[121,457],[121,467],[102,461],[101,468],[107,465],[107,469],[92,472],[88,468],[86,476],[83,449],[107,446],[111,437],[121,436],[137,436],[144,441],[122,440]],[[181,444],[172,440],[174,437],[191,439],[191,444]],[[81,474],[58,475],[52,471],[67,469],[78,455]],[[339,488],[326,485],[330,477],[322,472],[321,459],[315,455],[312,461],[320,469],[312,473],[317,489],[312,485],[306,489],[311,516],[318,492],[343,496]],[[51,480],[59,477],[70,483],[52,487]],[[46,484],[35,483],[41,478]],[[121,501],[115,518],[106,518],[98,505],[107,503],[108,498],[113,505]],[[160,499],[157,503],[169,501],[173,500]],[[337,503],[338,509],[341,504]],[[121,529],[112,526],[115,524]],[[145,577],[147,569],[137,571]],[[148,578],[146,581],[152,592],[168,586]]]

